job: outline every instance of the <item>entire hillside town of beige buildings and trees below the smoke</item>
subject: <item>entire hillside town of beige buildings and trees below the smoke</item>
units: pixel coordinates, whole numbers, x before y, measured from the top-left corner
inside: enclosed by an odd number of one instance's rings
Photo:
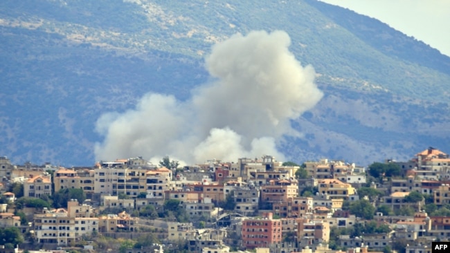
[[[433,147],[368,167],[3,156],[0,178],[0,253],[431,253],[450,238],[450,158]]]

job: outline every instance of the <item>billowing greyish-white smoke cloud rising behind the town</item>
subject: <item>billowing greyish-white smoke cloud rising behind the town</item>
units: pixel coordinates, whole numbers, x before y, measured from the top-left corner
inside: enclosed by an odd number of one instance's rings
[[[213,46],[206,67],[215,81],[192,91],[185,102],[147,94],[123,114],[102,115],[96,130],[98,160],[143,156],[184,162],[235,161],[242,157],[284,156],[282,135],[296,135],[290,119],[323,96],[314,69],[303,68],[289,52],[286,32],[234,35]]]

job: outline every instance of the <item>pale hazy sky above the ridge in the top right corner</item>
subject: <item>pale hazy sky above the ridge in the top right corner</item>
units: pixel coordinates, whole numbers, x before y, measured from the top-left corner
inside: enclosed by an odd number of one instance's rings
[[[450,0],[321,0],[378,19],[450,56]]]

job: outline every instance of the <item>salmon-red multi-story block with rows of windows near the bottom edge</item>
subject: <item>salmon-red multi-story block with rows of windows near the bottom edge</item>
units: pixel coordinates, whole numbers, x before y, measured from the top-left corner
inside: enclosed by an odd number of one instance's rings
[[[242,221],[242,246],[247,249],[268,247],[282,240],[281,221],[274,220],[271,212],[263,218],[248,218]]]

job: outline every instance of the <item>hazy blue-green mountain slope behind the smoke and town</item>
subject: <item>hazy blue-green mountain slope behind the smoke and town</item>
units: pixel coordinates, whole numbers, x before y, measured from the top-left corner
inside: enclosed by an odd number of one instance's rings
[[[0,3],[0,155],[91,165],[102,113],[147,92],[186,100],[211,46],[251,30],[287,31],[325,93],[280,144],[291,160],[449,149],[449,57],[375,19],[309,0],[39,0]]]

